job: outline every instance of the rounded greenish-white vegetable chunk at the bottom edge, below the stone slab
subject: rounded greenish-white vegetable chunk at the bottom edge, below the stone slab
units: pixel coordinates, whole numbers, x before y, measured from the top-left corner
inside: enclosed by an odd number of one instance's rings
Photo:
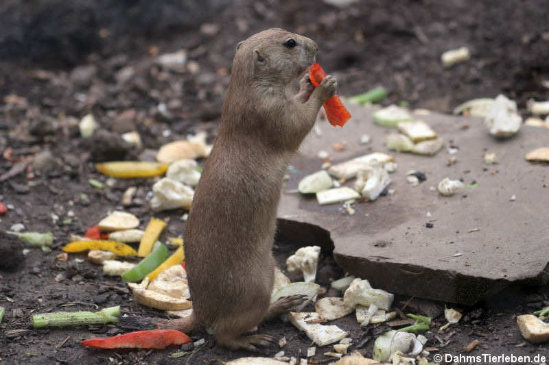
[[[418,344],[421,346],[421,349],[423,349],[423,344],[417,340],[413,333],[403,331],[385,332],[375,339],[373,344],[373,360],[378,362],[389,360],[389,357],[397,351],[401,351],[402,353],[410,353],[413,351],[415,353]],[[419,352],[421,352],[421,350]]]

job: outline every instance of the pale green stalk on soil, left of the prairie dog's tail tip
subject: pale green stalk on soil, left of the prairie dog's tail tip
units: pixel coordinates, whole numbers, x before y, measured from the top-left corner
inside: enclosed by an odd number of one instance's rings
[[[32,326],[42,327],[65,327],[80,325],[104,325],[106,323],[118,322],[120,306],[108,307],[99,312],[56,312],[34,314]]]

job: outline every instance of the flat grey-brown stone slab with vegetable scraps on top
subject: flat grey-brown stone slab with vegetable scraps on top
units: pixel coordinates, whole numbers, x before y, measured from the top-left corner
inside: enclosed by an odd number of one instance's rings
[[[353,118],[343,128],[317,121],[322,134],[303,142],[291,162],[279,218],[329,231],[336,262],[389,292],[470,305],[513,283],[548,283],[549,165],[526,162],[524,154],[549,146],[549,130],[523,125],[517,136],[495,140],[479,118],[416,115],[445,139],[445,147],[434,157],[390,152],[398,164],[390,174],[395,194],[355,203],[355,214],[349,215],[341,204],[320,207],[314,195],[296,192],[302,177],[320,169],[320,150],[334,163],[388,152],[384,137],[393,130],[373,123],[375,109],[349,105],[349,111]],[[370,134],[372,142],[361,145],[362,134]],[[343,141],[344,151],[331,148]],[[459,149],[458,162],[446,166],[450,145]],[[500,164],[484,164],[487,151],[496,153]],[[412,169],[427,180],[407,184]],[[430,187],[444,177],[478,186],[442,197]],[[344,185],[353,184],[354,179]],[[510,201],[513,195],[516,200]],[[434,227],[425,227],[428,222]]]

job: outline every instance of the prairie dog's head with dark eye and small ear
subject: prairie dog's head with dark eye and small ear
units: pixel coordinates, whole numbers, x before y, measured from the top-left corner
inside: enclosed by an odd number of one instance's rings
[[[314,40],[272,28],[238,43],[233,74],[249,81],[270,81],[287,85],[316,61]]]

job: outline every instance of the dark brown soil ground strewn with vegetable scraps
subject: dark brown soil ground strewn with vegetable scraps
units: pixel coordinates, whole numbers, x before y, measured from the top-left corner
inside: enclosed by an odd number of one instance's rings
[[[191,8],[158,1],[150,13],[145,11],[148,2],[138,1],[132,8],[127,5],[130,9],[109,8],[108,14],[98,10],[102,2],[97,8],[78,8],[86,2],[75,1],[71,11],[65,11],[69,5],[62,1],[43,1],[56,5],[51,13],[40,1],[34,1],[34,8],[10,8],[14,3],[0,5],[0,176],[14,173],[0,177],[0,202],[10,206],[0,216],[0,229],[23,223],[28,230],[53,231],[56,240],[52,253],[31,248],[16,270],[0,272],[0,305],[6,310],[0,325],[0,364],[218,364],[250,355],[218,347],[205,332],[191,333],[194,340],[206,338],[205,347],[171,358],[180,349],[96,351],[80,346],[91,336],[121,333],[115,326],[31,330],[16,338],[7,338],[5,330],[28,328],[33,313],[112,305],[121,305],[129,315],[165,316],[135,303],[121,280],[105,277],[100,266],[75,261],[84,255],[71,254],[69,262],[56,260],[56,255],[70,234],[82,234],[110,210],[132,212],[146,225],[152,216],[147,194],[154,180],[116,180],[100,190],[90,186],[89,179],[107,179],[92,163],[147,159],[154,156],[151,150],[196,131],[207,131],[213,140],[235,45],[261,29],[283,27],[316,40],[318,61],[338,78],[341,95],[383,85],[390,90],[384,105],[407,101],[412,107],[441,112],[500,92],[516,99],[522,112],[527,99],[549,99],[549,27],[542,0],[379,0],[341,9],[312,0],[185,2]],[[189,17],[193,10],[196,16]],[[471,49],[471,60],[444,68],[441,53],[463,45]],[[156,55],[178,49],[187,50],[183,70],[169,71],[154,62]],[[75,123],[89,112],[102,132],[84,141]],[[143,140],[139,149],[119,138],[134,129]],[[45,151],[53,158],[27,165],[28,158]],[[122,194],[130,186],[137,187],[136,197],[123,206]],[[169,221],[163,238],[183,234],[183,213],[155,214]],[[277,244],[281,267],[301,244]],[[17,260],[8,253],[1,256],[3,261]],[[329,288],[330,279],[343,273],[329,253],[323,257],[318,283]],[[409,300],[397,296],[395,307],[404,308]],[[412,304],[404,312],[421,313],[423,308],[436,315],[439,325],[445,323],[440,317],[444,303]],[[428,331],[427,347],[438,348],[432,355],[458,355],[469,342],[479,340],[470,355],[549,357],[545,345],[525,342],[515,325],[517,314],[545,305],[549,288],[517,288],[475,307],[459,308],[463,320],[440,335]],[[358,349],[368,357],[373,340],[358,345],[388,328],[363,331],[353,316],[334,324],[350,333],[351,351]],[[303,333],[281,320],[261,325],[259,331],[285,336],[288,356],[300,357],[310,346]],[[316,363],[327,362],[322,353],[330,350],[317,349]],[[268,355],[277,351],[271,349]]]

